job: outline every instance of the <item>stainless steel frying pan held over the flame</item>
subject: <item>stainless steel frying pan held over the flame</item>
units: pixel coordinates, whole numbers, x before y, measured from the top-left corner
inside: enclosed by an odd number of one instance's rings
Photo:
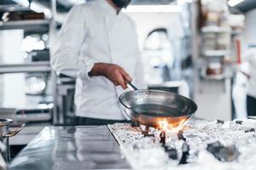
[[[135,122],[150,127],[159,127],[158,122],[166,120],[177,126],[181,121],[189,119],[197,110],[191,99],[179,94],[160,90],[137,89],[126,82],[132,91],[119,96],[125,113]]]

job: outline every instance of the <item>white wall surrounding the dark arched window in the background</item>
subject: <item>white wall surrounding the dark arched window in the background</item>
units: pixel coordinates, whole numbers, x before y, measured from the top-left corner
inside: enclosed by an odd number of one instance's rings
[[[184,32],[184,22],[180,13],[175,12],[166,12],[166,13],[129,13],[131,18],[135,20],[137,24],[137,33],[138,33],[138,41],[139,46],[142,50],[143,54],[143,63],[144,63],[144,71],[150,72],[148,65],[148,53],[144,49],[144,43],[150,31],[153,31],[156,28],[166,28],[168,31],[168,38],[170,39],[172,50],[170,49],[170,54],[174,58],[175,67],[172,68],[170,75],[173,80],[179,81],[183,77],[183,72],[181,71],[180,65],[182,59],[188,56],[189,49],[185,48],[185,32]],[[161,57],[162,54],[159,54]],[[170,63],[171,65],[171,63]],[[156,71],[156,70],[155,70]],[[151,76],[159,75],[160,73],[152,72]],[[147,74],[148,75],[148,74]],[[150,76],[150,77],[151,77]],[[160,83],[162,80],[160,78],[154,77],[154,79],[150,78],[148,81],[148,76],[146,76],[146,81],[148,83]]]

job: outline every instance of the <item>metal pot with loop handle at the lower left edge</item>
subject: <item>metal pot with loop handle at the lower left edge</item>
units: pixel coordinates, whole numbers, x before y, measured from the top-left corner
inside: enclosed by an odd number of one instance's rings
[[[25,127],[25,123],[14,131],[9,130],[9,125],[14,122],[12,119],[0,119],[0,140],[6,145],[6,150],[3,151],[3,156],[7,162],[9,162],[9,137],[15,136]]]

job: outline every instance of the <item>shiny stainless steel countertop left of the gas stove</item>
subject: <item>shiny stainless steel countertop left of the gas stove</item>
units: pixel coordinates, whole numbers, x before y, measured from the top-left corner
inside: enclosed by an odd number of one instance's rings
[[[106,126],[44,127],[10,170],[129,169]]]

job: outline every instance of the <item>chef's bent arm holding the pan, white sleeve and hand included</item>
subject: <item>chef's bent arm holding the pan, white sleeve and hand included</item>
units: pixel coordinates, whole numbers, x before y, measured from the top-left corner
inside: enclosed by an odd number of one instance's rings
[[[58,41],[51,49],[53,69],[57,73],[78,77],[84,82],[93,76],[104,76],[115,85],[127,88],[125,80],[131,81],[131,77],[119,65],[98,63],[90,56],[80,56],[79,51],[88,31],[86,16],[86,11],[80,6],[71,9],[61,28]]]

